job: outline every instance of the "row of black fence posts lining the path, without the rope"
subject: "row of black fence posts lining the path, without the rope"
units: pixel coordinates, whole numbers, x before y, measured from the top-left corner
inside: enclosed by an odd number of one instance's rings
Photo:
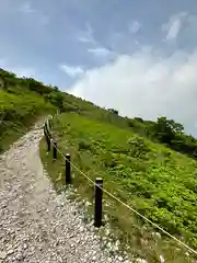
[[[53,160],[57,159],[57,141],[53,140],[51,134],[48,129],[47,123],[44,126],[44,134],[47,145],[47,152],[50,152],[53,146]],[[66,184],[70,184],[72,181],[71,178],[71,162],[70,162],[70,153],[67,153],[65,157],[65,182]],[[95,180],[95,190],[94,190],[94,226],[102,226],[102,199],[103,199],[103,179],[96,178]]]

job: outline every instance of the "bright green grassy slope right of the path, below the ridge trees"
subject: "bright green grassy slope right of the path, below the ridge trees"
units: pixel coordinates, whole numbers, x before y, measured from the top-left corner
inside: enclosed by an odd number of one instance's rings
[[[54,130],[58,147],[70,151],[73,163],[91,179],[102,176],[104,186],[142,215],[176,237],[197,248],[197,162],[164,146],[153,144],[127,129],[94,121],[74,113],[61,114]],[[63,184],[63,160],[51,162],[45,155],[49,174],[56,185]],[[93,186],[74,172],[73,184],[81,198],[93,199]],[[158,240],[153,230],[127,208],[104,195],[113,232],[128,250],[150,262],[163,254],[166,262],[190,262],[184,249],[176,250],[174,241],[162,236]],[[92,210],[90,209],[92,214]],[[155,230],[154,230],[155,231]]]

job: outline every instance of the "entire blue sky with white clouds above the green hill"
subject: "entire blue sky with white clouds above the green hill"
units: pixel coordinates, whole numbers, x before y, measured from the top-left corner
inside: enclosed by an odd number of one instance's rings
[[[1,0],[0,67],[197,135],[195,0]]]

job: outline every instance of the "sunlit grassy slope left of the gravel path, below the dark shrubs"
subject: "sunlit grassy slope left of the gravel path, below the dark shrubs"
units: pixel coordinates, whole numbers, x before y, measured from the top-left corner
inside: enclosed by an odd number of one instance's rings
[[[0,90],[0,151],[23,135],[37,117],[54,112],[43,98],[27,90],[14,89],[14,93]]]

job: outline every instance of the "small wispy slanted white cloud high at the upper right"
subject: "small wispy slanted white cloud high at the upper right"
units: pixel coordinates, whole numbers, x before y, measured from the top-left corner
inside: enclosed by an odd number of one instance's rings
[[[184,21],[187,19],[187,13],[182,12],[178,14],[175,14],[170,18],[169,22],[166,24],[162,25],[162,30],[166,32],[166,41],[173,41],[176,39],[181,28],[183,26]]]

